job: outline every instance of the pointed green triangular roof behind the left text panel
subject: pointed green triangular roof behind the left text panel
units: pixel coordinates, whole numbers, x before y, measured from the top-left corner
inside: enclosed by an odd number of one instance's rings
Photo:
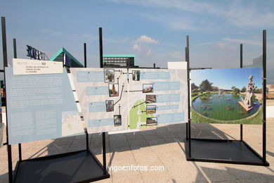
[[[64,53],[70,57],[70,60],[72,61],[71,63],[71,68],[84,68],[84,65],[81,64],[79,61],[77,61],[74,56],[72,56],[66,49],[63,47],[57,51],[57,53],[49,59],[50,61],[59,61],[64,63]]]

